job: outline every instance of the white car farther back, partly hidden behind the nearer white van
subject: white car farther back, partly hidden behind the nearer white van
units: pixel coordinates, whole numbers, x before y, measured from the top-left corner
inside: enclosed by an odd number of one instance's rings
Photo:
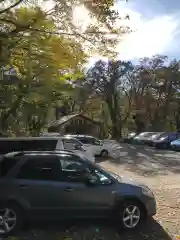
[[[76,138],[78,141],[83,143],[86,149],[91,149],[91,152],[102,157],[108,156],[111,148],[108,144],[105,144],[102,140],[99,140],[92,136],[87,135],[66,135],[66,137]]]

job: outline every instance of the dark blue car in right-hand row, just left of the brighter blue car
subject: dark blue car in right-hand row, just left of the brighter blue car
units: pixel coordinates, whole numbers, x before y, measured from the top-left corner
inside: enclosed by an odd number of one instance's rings
[[[153,146],[156,148],[168,149],[170,148],[171,142],[178,138],[180,138],[180,133],[164,133],[153,141]]]

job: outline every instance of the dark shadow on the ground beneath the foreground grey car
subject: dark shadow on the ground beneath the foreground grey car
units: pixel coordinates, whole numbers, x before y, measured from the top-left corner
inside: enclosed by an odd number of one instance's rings
[[[29,226],[18,239],[22,240],[171,240],[161,225],[155,220],[149,220],[143,224],[142,229],[133,232],[115,231],[109,224],[94,221],[76,221],[68,223],[41,224],[34,228]]]

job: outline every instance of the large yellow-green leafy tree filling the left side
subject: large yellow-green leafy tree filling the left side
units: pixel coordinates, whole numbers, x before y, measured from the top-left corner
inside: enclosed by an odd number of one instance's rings
[[[13,31],[16,27],[9,23],[6,25],[11,19],[15,25],[23,23],[27,26],[37,16],[38,21],[33,26],[41,29],[40,32],[26,28],[15,34]],[[61,95],[68,74],[73,73],[74,78],[81,75],[81,66],[87,55],[75,39],[46,33],[56,29],[56,26],[40,8],[17,8],[13,16],[8,13],[6,21],[1,22],[1,131],[6,131],[8,120],[15,123],[16,118],[25,117],[23,121],[28,125],[28,121],[38,121],[37,114],[40,118],[42,114],[47,114],[47,107],[51,107]],[[8,82],[4,73],[11,68],[16,76],[10,78],[10,81],[15,79],[13,82]]]

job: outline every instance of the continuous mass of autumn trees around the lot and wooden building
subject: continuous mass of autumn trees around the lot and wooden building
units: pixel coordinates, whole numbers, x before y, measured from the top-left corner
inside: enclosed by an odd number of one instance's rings
[[[2,1],[0,8],[0,131],[37,135],[62,114],[102,120],[101,135],[125,129],[180,130],[179,60],[166,56],[116,60],[115,45],[129,31],[113,1]],[[83,4],[83,5],[82,5]],[[73,19],[83,6],[90,22]],[[98,60],[87,71],[93,53]],[[59,110],[60,109],[60,110]]]

